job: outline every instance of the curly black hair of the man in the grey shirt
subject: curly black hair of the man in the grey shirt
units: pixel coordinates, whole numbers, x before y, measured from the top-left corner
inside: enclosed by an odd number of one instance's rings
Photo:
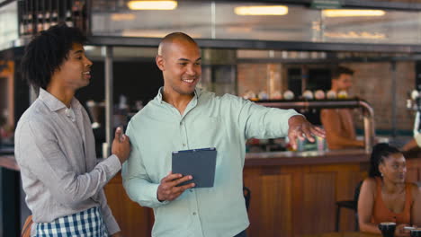
[[[85,35],[77,28],[59,23],[40,31],[28,46],[21,62],[22,79],[35,91],[46,89],[51,75],[63,64],[74,43],[84,44]]]

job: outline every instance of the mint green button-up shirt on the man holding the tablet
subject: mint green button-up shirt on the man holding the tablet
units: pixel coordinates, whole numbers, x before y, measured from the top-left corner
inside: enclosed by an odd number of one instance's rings
[[[287,136],[288,119],[298,113],[196,89],[181,115],[162,100],[161,90],[127,128],[132,151],[123,164],[122,178],[129,197],[154,209],[152,236],[242,232],[249,224],[243,197],[246,139]],[[157,187],[171,171],[172,152],[207,147],[218,151],[213,188],[187,189],[173,201],[159,202]]]

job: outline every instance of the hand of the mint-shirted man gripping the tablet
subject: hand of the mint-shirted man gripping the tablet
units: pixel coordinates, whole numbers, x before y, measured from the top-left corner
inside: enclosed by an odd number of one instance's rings
[[[185,189],[194,187],[194,183],[189,183],[180,187],[176,187],[182,182],[192,180],[192,175],[183,176],[180,173],[173,173],[172,171],[161,180],[157,189],[157,199],[162,201],[172,201],[178,198]]]

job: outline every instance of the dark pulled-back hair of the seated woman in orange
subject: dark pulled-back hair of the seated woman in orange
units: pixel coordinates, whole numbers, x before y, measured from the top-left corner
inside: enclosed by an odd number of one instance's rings
[[[369,170],[370,177],[381,177],[379,165],[383,163],[384,159],[389,157],[390,154],[401,154],[401,152],[398,148],[385,143],[377,144],[372,147],[372,157],[370,158]]]

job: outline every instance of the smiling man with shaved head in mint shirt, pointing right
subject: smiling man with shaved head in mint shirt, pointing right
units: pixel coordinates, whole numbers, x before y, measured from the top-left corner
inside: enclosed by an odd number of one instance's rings
[[[161,41],[156,62],[164,87],[130,120],[132,151],[122,168],[124,188],[139,205],[154,209],[152,236],[246,236],[246,139],[289,136],[294,143],[304,136],[324,136],[324,131],[294,110],[269,109],[196,88],[201,53],[184,33]],[[177,187],[193,177],[171,172],[172,152],[206,147],[218,151],[214,186]]]

